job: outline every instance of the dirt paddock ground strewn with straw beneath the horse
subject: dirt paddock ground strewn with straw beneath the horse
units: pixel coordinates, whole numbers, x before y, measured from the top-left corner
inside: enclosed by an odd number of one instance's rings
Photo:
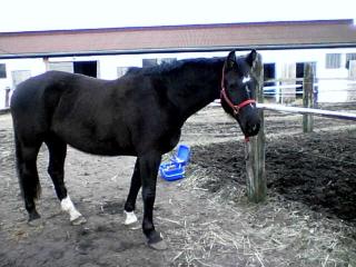
[[[343,107],[353,108],[353,107]],[[340,110],[340,107],[335,107]],[[60,211],[38,168],[43,224],[27,225],[14,170],[10,115],[0,116],[0,266],[345,266],[356,267],[356,123],[266,112],[268,198],[246,198],[244,140],[219,107],[192,116],[182,130],[191,146],[187,177],[159,178],[155,221],[169,248],[145,245],[127,229],[123,204],[135,158],[97,157],[69,148],[66,182],[83,226]],[[168,156],[166,156],[168,158]],[[141,218],[142,204],[138,199]]]

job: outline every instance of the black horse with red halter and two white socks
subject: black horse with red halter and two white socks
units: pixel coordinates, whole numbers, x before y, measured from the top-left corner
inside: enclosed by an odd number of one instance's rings
[[[49,150],[48,172],[61,208],[72,224],[86,219],[75,208],[63,181],[67,145],[95,155],[136,156],[126,224],[137,224],[136,198],[142,187],[142,230],[148,245],[166,247],[155,229],[152,209],[161,156],[179,141],[189,116],[221,97],[246,137],[259,130],[253,100],[256,61],[253,50],[236,58],[188,59],[151,68],[132,68],[122,78],[106,81],[81,75],[49,71],[18,86],[11,99],[19,182],[33,222],[40,216],[34,200],[40,195],[37,156],[44,142]]]

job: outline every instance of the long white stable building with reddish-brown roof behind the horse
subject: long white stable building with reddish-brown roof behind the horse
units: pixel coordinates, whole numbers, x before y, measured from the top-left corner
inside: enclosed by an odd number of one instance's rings
[[[0,33],[0,109],[19,82],[47,70],[116,79],[129,67],[251,48],[264,57],[266,80],[303,77],[305,62],[316,77],[356,77],[353,20],[7,32]]]

